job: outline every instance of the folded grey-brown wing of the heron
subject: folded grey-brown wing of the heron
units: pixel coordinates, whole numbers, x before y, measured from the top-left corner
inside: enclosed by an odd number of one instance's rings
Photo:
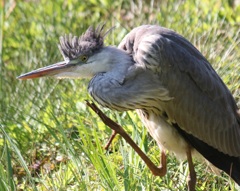
[[[139,65],[159,74],[171,101],[162,102],[172,123],[230,156],[240,156],[240,116],[235,100],[202,54],[175,32],[138,27],[120,43]]]

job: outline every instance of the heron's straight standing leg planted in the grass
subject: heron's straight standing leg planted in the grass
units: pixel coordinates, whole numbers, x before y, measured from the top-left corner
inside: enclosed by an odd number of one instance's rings
[[[188,161],[188,168],[189,168],[189,175],[188,175],[188,191],[195,191],[196,186],[196,172],[194,170],[194,164],[192,161],[192,153],[191,148],[188,147],[187,149],[187,161]]]

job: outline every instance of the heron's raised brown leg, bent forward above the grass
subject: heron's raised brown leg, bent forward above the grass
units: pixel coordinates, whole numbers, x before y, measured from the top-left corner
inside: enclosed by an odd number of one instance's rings
[[[161,154],[161,165],[157,167],[148,156],[137,146],[137,144],[132,140],[132,138],[126,133],[126,131],[118,125],[116,122],[107,117],[93,102],[90,103],[86,100],[87,105],[102,119],[103,123],[110,127],[115,133],[121,135],[125,141],[130,144],[130,146],[138,153],[138,155],[142,158],[148,168],[152,171],[155,176],[164,176],[166,174],[166,155],[164,152]],[[113,134],[115,134],[113,132]],[[114,135],[115,136],[115,135]],[[112,137],[114,137],[112,136]],[[111,137],[111,138],[112,138]],[[111,143],[111,139],[109,140]]]

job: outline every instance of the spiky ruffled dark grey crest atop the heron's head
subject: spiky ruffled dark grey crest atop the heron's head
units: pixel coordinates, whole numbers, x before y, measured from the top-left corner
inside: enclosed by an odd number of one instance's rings
[[[72,34],[61,36],[58,48],[64,59],[72,60],[81,54],[92,54],[101,49],[104,45],[104,37],[113,29],[112,27],[104,32],[104,27],[105,24],[98,25],[96,29],[90,26],[80,37]]]

